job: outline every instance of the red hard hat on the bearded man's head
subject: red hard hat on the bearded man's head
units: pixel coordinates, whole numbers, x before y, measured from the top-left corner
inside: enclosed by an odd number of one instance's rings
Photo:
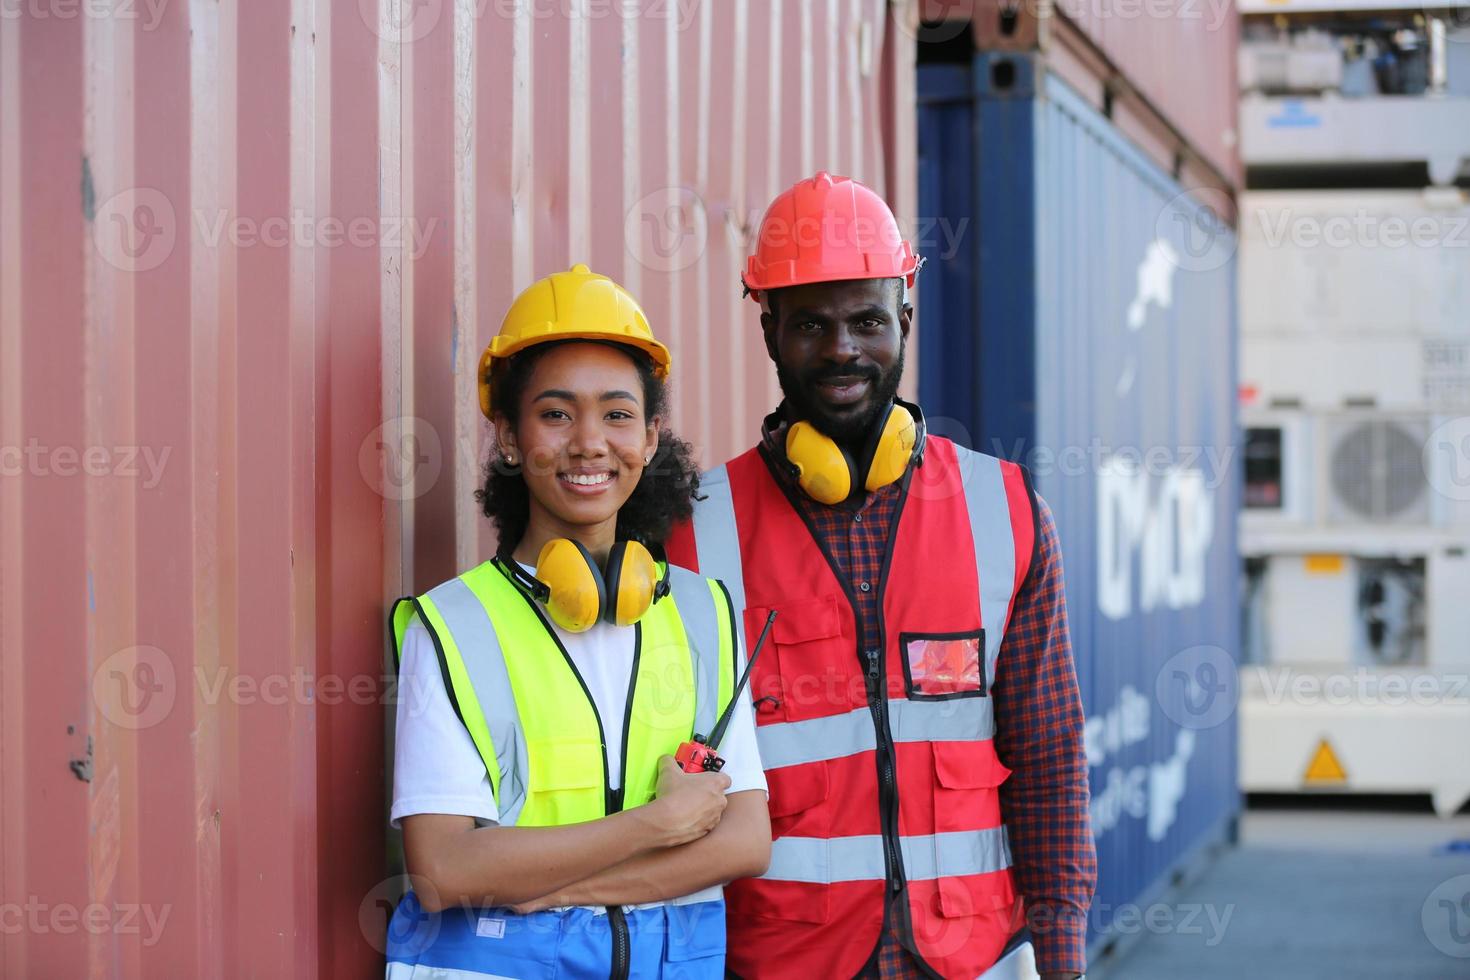
[[[850,176],[819,170],[778,195],[760,220],[756,254],[741,282],[763,289],[838,279],[904,279],[913,288],[919,257],[888,204]]]

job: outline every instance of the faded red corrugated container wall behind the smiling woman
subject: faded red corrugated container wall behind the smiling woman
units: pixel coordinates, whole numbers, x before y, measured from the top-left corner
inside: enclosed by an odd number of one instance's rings
[[[378,968],[384,608],[492,547],[481,348],[589,262],[673,345],[703,461],[753,441],[775,381],[736,275],[766,201],[829,167],[914,210],[888,18],[0,18],[4,976]]]

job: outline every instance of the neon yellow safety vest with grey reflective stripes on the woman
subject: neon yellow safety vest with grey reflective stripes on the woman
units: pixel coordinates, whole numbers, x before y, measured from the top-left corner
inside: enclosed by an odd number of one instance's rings
[[[723,583],[678,566],[634,624],[622,732],[604,732],[576,666],[535,599],[487,561],[392,607],[394,646],[417,613],[456,714],[485,761],[500,826],[551,827],[654,798],[659,757],[709,735],[735,691],[735,607]],[[622,755],[609,789],[607,752]]]

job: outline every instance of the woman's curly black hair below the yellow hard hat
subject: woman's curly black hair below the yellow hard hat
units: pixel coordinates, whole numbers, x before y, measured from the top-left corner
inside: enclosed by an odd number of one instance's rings
[[[497,363],[491,373],[491,410],[506,416],[512,426],[517,426],[520,398],[537,361],[553,347],[567,342],[573,341],[537,344],[509,361]],[[650,420],[667,417],[669,385],[654,375],[653,360],[626,344],[607,345],[626,354],[638,367],[644,391],[644,416]],[[698,489],[700,470],[694,463],[694,447],[667,428],[662,428],[653,460],[644,467],[638,486],[617,511],[617,539],[639,541],[651,548],[662,547],[673,526],[688,520],[694,513]],[[520,476],[520,469],[507,467],[501,454],[492,448],[485,466],[485,485],[475,491],[475,500],[494,522],[500,535],[500,550],[507,554],[513,551],[531,522],[531,491]]]

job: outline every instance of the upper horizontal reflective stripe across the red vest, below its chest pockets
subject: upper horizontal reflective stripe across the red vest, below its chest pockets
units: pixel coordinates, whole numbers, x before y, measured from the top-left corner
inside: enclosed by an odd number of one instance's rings
[[[889,698],[894,742],[983,742],[995,735],[989,698],[908,701]],[[756,729],[766,770],[820,763],[878,748],[873,713],[867,707],[801,721],[775,721]]]

